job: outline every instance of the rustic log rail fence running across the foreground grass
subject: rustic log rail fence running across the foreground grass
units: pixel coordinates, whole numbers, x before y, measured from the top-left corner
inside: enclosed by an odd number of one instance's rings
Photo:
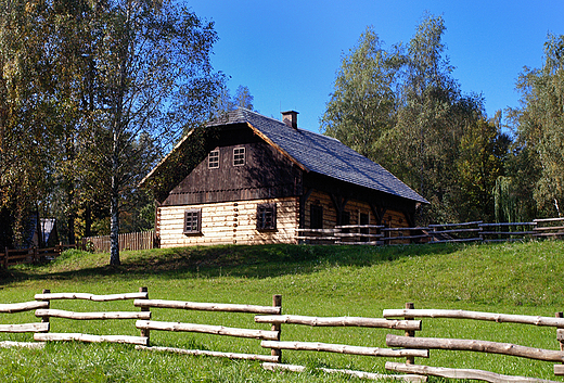
[[[87,299],[92,302],[132,301],[132,307],[140,310],[128,311],[94,311],[74,312],[63,309],[53,309],[53,301]],[[104,306],[106,307],[106,306]],[[241,329],[226,325],[210,325],[203,323],[184,323],[178,321],[157,321],[152,318],[152,308],[158,308],[158,315],[165,316],[163,309],[174,310],[200,310],[213,312],[243,312],[254,315],[255,323],[268,324],[269,329]],[[35,301],[17,304],[0,304],[0,314],[14,314],[26,310],[35,310],[35,315],[41,318],[36,323],[0,324],[0,333],[28,332],[34,334],[34,342],[0,342],[0,347],[36,347],[41,348],[44,342],[110,342],[136,345],[136,349],[151,352],[170,352],[185,355],[205,355],[211,357],[227,357],[231,359],[251,359],[262,361],[262,367],[268,370],[304,371],[305,366],[287,365],[282,362],[282,350],[308,350],[322,353],[338,353],[346,355],[372,356],[382,358],[405,358],[405,362],[386,361],[385,368],[393,374],[382,374],[367,371],[352,371],[343,369],[320,368],[326,373],[345,373],[363,379],[397,379],[409,382],[424,382],[427,375],[448,379],[483,380],[486,382],[547,382],[546,380],[530,376],[502,375],[499,373],[483,371],[479,369],[457,369],[449,367],[430,367],[415,363],[416,358],[430,358],[430,349],[466,350],[487,354],[502,354],[520,358],[555,362],[554,375],[564,375],[564,318],[562,312],[555,317],[508,315],[495,312],[478,312],[466,310],[445,309],[415,309],[412,303],[406,304],[403,309],[385,309],[383,318],[366,317],[310,317],[302,315],[282,315],[282,296],[273,295],[272,306],[196,303],[182,301],[150,299],[146,288],[141,288],[136,293],[94,295],[89,293],[51,293],[44,290],[35,295]],[[140,336],[108,334],[91,335],[73,332],[52,332],[50,318],[63,318],[68,320],[125,320],[136,319],[134,328],[140,331]],[[398,319],[399,318],[399,319]],[[517,323],[521,325],[552,327],[556,329],[556,341],[560,349],[541,349],[521,346],[510,343],[488,342],[483,340],[459,340],[415,336],[415,332],[422,331],[422,319],[435,318],[465,319],[476,321],[491,321],[496,323]],[[222,318],[225,321],[225,318]],[[61,323],[61,321],[57,321]],[[130,323],[130,322],[128,322]],[[124,327],[131,325],[124,323]],[[281,340],[283,327],[357,327],[370,329],[384,329],[383,336],[389,348],[371,346],[351,346],[344,344],[328,344],[319,342],[300,342],[298,340]],[[73,324],[65,322],[64,329],[72,329]],[[124,328],[126,329],[126,328]],[[127,328],[130,333],[130,328]],[[241,354],[201,349],[185,349],[170,346],[152,346],[152,331],[195,332],[222,336],[235,336],[255,339],[260,341],[260,346],[270,350],[267,354]],[[402,331],[403,335],[389,334],[389,331]],[[525,331],[525,329],[524,329]],[[124,331],[126,332],[126,331]]]

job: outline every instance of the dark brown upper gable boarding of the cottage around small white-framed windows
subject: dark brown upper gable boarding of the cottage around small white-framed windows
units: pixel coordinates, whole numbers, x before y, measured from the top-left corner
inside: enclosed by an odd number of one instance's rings
[[[235,166],[235,149],[245,164]],[[295,196],[302,192],[302,170],[244,126],[221,133],[215,150],[219,167],[200,163],[164,201],[163,206]]]

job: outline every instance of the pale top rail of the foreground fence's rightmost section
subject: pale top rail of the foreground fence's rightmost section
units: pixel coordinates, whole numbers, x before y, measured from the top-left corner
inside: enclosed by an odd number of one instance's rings
[[[384,318],[449,318],[449,319],[474,319],[492,322],[508,322],[520,324],[534,324],[542,327],[564,328],[564,318],[524,316],[513,314],[496,314],[466,310],[440,310],[440,309],[386,309]]]

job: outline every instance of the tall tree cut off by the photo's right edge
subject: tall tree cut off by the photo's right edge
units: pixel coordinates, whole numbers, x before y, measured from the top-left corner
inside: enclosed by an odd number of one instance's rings
[[[522,107],[511,111],[518,139],[536,153],[540,177],[535,200],[546,214],[564,214],[564,35],[549,35],[544,64],[525,68],[517,80]]]

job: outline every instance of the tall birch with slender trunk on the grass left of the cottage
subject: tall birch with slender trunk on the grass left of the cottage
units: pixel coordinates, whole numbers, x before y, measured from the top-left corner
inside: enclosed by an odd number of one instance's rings
[[[172,1],[108,1],[94,28],[101,31],[92,60],[103,98],[97,105],[101,135],[91,140],[98,174],[108,180],[110,264],[119,265],[120,196],[154,165],[158,149],[208,116],[222,77],[209,63],[213,24]]]

